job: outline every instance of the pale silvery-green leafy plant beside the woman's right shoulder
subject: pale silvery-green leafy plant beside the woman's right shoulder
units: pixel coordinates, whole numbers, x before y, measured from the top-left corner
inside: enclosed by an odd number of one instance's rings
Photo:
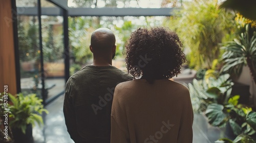
[[[232,85],[233,82],[229,80],[229,74],[221,75],[218,78],[194,79],[193,84],[188,83],[194,111],[204,112],[212,103],[226,103],[230,97]]]

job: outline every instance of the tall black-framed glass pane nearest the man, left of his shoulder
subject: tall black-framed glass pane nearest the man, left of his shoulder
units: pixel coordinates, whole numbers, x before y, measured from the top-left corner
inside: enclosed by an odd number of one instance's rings
[[[41,7],[59,9],[46,0],[41,0]],[[63,56],[63,17],[42,15],[41,24],[46,99],[50,99],[63,93],[66,83],[65,57]]]

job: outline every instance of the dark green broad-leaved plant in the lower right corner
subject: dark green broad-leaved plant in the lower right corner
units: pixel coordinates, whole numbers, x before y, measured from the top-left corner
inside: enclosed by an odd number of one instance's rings
[[[253,137],[256,134],[256,112],[251,108],[238,104],[240,96],[229,98],[228,102],[208,105],[205,114],[212,126],[224,127],[229,125],[234,136]],[[243,136],[246,135],[246,136]],[[242,138],[244,139],[244,138]],[[235,139],[236,140],[236,139]]]

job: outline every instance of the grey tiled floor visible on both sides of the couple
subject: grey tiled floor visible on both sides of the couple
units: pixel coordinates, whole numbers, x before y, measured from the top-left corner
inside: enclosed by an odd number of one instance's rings
[[[45,116],[44,128],[34,127],[34,143],[73,143],[65,125],[62,112],[63,96],[46,106],[49,114]],[[194,143],[215,142],[219,138],[227,137],[224,129],[211,127],[201,114],[194,115]],[[226,132],[226,133],[225,133]]]

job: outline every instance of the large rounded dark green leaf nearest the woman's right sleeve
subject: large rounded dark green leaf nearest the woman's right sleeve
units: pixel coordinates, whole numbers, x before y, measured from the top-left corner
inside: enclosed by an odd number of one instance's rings
[[[205,114],[208,117],[208,122],[212,126],[219,126],[225,119],[226,115],[223,112],[224,106],[220,104],[208,105]]]

